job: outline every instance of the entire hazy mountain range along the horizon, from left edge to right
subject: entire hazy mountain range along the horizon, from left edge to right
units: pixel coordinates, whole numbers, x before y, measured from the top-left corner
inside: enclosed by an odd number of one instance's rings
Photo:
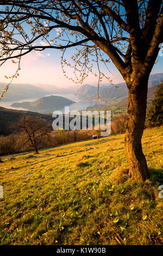
[[[151,88],[157,84],[160,84],[161,80],[163,80],[163,73],[153,74],[149,76],[148,88]],[[4,90],[4,87],[7,83],[0,83],[0,91]],[[117,84],[116,88],[113,85],[102,85],[99,88],[99,93],[101,94],[101,104],[110,105],[116,102],[120,102],[124,98],[128,96],[128,90],[125,82],[121,84]],[[42,88],[41,88],[42,87]],[[71,86],[68,88],[59,88],[57,86],[52,85],[30,85],[30,84],[11,84],[9,86],[9,90],[4,94],[4,97],[0,101],[0,105],[3,106],[3,102],[16,102],[18,100],[23,99],[39,99],[41,97],[45,97],[49,94],[68,94],[74,93],[76,96],[92,100],[95,104],[98,102],[97,100],[97,86],[92,85],[82,85],[82,86]]]

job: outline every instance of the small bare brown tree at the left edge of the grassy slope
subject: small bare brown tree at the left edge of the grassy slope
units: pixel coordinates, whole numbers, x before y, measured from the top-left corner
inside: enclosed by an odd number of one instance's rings
[[[22,144],[29,144],[38,154],[39,145],[48,139],[50,129],[46,120],[33,116],[23,115],[13,127],[24,134]]]

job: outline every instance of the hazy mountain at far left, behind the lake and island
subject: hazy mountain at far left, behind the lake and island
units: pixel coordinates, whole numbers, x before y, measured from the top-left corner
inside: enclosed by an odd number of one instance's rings
[[[4,90],[7,83],[0,83],[0,91]],[[4,94],[3,101],[14,101],[20,99],[28,98],[40,98],[46,96],[49,92],[43,90],[42,88],[29,85],[29,84],[11,84],[9,90]]]

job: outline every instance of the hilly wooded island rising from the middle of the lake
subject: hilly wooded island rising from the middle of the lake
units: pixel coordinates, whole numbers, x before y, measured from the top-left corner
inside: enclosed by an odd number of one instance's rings
[[[60,96],[48,96],[35,100],[34,102],[22,102],[13,103],[11,106],[14,108],[23,108],[30,111],[36,111],[40,113],[53,112],[59,110],[64,106],[71,105],[73,102],[70,99],[66,99]]]

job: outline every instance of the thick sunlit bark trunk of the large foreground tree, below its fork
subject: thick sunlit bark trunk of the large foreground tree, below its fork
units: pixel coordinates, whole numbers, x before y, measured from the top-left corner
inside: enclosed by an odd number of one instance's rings
[[[129,176],[133,180],[146,180],[149,177],[146,158],[142,152],[141,138],[145,125],[148,79],[128,84],[128,122],[125,135],[125,148],[129,164]]]

